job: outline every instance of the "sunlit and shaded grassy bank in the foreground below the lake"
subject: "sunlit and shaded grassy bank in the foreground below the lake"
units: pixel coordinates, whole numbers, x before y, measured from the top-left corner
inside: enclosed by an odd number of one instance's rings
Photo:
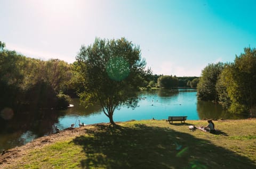
[[[214,121],[216,134],[164,120],[66,130],[16,148],[3,168],[255,168],[256,120]],[[33,145],[36,147],[33,148]],[[10,150],[2,156],[10,156]],[[9,163],[9,164],[8,164]],[[1,165],[0,165],[1,168]]]

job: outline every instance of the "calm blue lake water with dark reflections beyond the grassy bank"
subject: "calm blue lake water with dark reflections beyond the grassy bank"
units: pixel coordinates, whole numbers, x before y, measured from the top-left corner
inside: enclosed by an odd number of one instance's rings
[[[147,120],[153,117],[161,120],[168,116],[188,116],[188,120],[243,119],[242,116],[229,114],[220,105],[198,101],[194,89],[142,91],[140,98],[139,107],[135,109],[117,109],[114,121]],[[66,111],[37,111],[14,116],[1,126],[0,151],[47,136],[54,132],[54,125],[63,130],[72,123],[78,127],[78,120],[85,124],[109,122],[98,105],[85,108],[79,105],[77,98],[72,100],[72,104],[74,107]]]

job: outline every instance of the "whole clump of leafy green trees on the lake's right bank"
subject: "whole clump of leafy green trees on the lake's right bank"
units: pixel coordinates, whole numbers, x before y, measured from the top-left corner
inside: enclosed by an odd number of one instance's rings
[[[230,112],[256,115],[256,49],[244,48],[234,63],[209,64],[202,71],[197,96],[221,103]]]

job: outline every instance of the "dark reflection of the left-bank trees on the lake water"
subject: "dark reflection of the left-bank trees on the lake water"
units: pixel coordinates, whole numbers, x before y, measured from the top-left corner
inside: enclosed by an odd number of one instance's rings
[[[19,112],[11,120],[1,121],[3,123],[0,129],[0,150],[24,145],[35,138],[52,133],[53,124],[58,122],[58,112]]]

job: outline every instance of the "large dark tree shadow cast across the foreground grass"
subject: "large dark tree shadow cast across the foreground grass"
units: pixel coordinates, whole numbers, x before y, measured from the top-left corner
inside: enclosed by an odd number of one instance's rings
[[[255,168],[252,160],[190,134],[135,124],[97,125],[73,142],[83,146],[82,168]]]

